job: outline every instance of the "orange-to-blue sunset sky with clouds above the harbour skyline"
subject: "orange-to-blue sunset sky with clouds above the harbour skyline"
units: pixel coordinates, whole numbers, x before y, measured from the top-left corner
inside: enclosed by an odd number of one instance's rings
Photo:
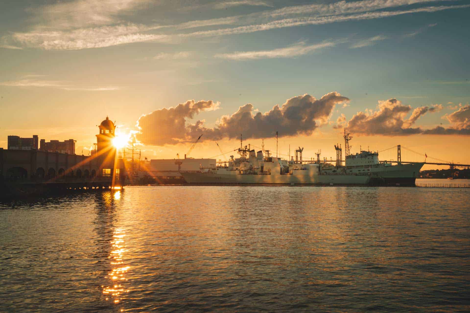
[[[149,159],[200,134],[192,157],[241,132],[275,150],[276,130],[281,153],[334,158],[347,126],[353,153],[470,163],[467,0],[5,2],[0,147],[34,134],[88,154],[108,115]]]

